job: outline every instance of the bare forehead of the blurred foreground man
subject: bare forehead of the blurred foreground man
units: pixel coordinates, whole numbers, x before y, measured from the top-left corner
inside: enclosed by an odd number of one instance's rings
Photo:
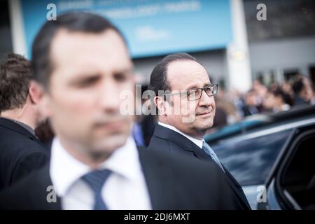
[[[54,64],[130,63],[123,38],[113,29],[99,34],[60,29],[52,40],[50,56]]]

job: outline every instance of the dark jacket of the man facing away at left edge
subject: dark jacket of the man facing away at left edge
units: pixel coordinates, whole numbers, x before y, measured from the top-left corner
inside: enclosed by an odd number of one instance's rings
[[[0,190],[48,162],[48,151],[18,123],[0,118]]]

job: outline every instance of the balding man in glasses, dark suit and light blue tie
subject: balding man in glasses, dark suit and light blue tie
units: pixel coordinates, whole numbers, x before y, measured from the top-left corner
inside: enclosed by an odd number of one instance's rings
[[[186,53],[168,55],[153,69],[150,89],[155,92],[159,121],[148,149],[176,156],[181,153],[213,163],[249,209],[241,186],[203,139],[214,123],[214,94],[218,91],[218,85],[211,84],[206,69]]]

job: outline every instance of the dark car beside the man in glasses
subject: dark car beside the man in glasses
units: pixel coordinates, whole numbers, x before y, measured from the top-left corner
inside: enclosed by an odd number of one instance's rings
[[[281,193],[278,192],[283,188],[280,188],[281,184],[279,183],[279,185],[276,182],[279,179],[276,176],[283,175],[283,172],[280,172],[281,165],[288,163],[289,160],[295,160],[294,158],[297,156],[290,155],[285,160],[285,157],[289,154],[289,148],[293,147],[293,143],[300,138],[302,132],[312,130],[314,125],[315,106],[306,106],[284,113],[252,117],[236,125],[227,126],[224,131],[218,130],[213,134],[209,134],[205,137],[205,140],[214,149],[223,165],[239,181],[252,209],[288,209],[289,207],[283,206],[283,204],[288,203],[283,200],[285,197],[279,197]],[[228,132],[227,130],[232,131]],[[312,142],[314,143],[314,137],[306,144]],[[311,157],[311,155],[314,155],[315,144],[310,145],[309,148],[313,149],[312,152],[309,152],[309,157],[315,160],[314,156]],[[295,162],[294,167],[290,169],[290,176],[294,172],[304,172],[304,174],[308,174],[304,181],[312,180],[315,182],[314,165],[311,165],[309,160],[304,160],[309,167],[309,170],[307,170],[303,166],[304,162],[301,159],[298,160],[301,164]],[[313,164],[315,163],[313,162]],[[288,175],[286,174],[286,176]],[[300,174],[299,176],[302,177]],[[291,183],[290,181],[294,182],[295,180],[291,178],[283,183]],[[309,185],[304,190],[313,189],[309,192],[314,193],[313,182],[307,183]],[[273,198],[270,196],[272,189],[276,195]],[[285,189],[286,193],[283,194],[289,194],[293,198],[296,197],[292,188]],[[315,194],[312,196],[315,199],[314,196]],[[279,207],[275,206],[275,202],[278,203]],[[309,209],[311,208],[309,206],[311,205],[300,205],[300,208]]]

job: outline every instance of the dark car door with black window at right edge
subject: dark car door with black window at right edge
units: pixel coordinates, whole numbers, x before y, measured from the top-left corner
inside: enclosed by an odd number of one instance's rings
[[[315,209],[315,125],[296,128],[266,182],[258,209]]]

